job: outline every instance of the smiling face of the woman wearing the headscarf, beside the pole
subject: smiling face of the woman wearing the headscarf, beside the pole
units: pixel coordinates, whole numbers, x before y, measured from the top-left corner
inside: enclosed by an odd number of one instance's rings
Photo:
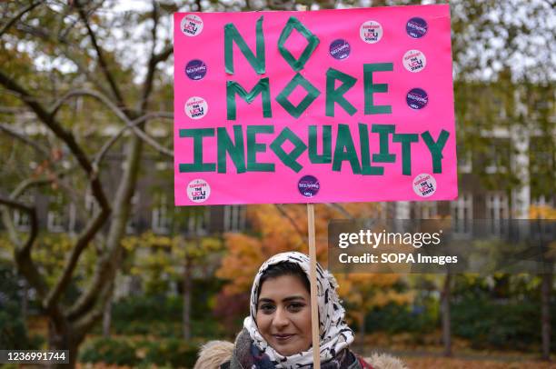
[[[290,356],[309,349],[313,343],[311,296],[298,276],[281,275],[263,282],[256,322],[279,354]]]

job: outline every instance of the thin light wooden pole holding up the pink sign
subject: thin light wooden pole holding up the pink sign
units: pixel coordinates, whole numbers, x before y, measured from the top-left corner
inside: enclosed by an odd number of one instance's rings
[[[314,238],[314,204],[307,204],[307,222],[309,239],[309,258],[311,268],[309,282],[311,282],[311,326],[313,328],[313,368],[321,369],[321,342],[319,337],[319,302],[317,300],[316,282],[316,244]]]

